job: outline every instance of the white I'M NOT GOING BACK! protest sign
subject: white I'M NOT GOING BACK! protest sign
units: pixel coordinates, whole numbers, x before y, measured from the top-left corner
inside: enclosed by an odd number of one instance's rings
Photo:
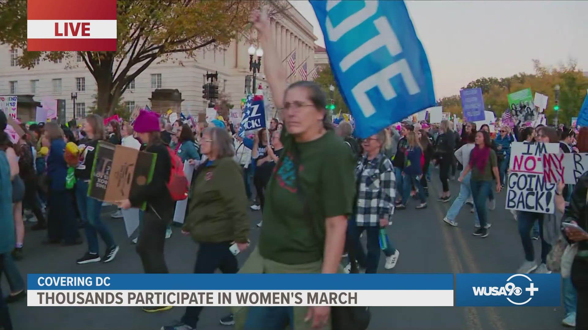
[[[556,184],[544,180],[543,158],[557,152],[558,143],[510,144],[507,210],[554,213]]]

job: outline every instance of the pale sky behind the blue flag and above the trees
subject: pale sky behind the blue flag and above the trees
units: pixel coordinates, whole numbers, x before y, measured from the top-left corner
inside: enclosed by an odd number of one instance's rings
[[[325,46],[310,2],[290,2]],[[406,1],[406,7],[437,99],[477,78],[533,73],[532,59],[557,65],[572,57],[588,71],[588,1]]]

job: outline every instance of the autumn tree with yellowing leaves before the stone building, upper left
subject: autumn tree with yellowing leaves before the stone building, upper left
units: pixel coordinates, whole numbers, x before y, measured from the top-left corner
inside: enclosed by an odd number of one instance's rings
[[[0,43],[23,49],[22,68],[33,68],[39,59],[57,62],[79,55],[96,80],[99,113],[115,112],[130,82],[155,60],[195,58],[206,46],[227,46],[246,38],[250,12],[261,4],[270,14],[288,8],[286,1],[249,0],[125,0],[118,1],[116,52],[29,52],[26,49],[26,1],[0,1]]]

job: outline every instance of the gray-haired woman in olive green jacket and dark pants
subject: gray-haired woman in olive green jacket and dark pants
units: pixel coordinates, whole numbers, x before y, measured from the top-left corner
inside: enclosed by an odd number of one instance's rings
[[[249,245],[247,196],[242,170],[233,160],[232,139],[222,127],[208,127],[202,133],[202,154],[191,187],[188,214],[182,233],[198,243],[195,274],[224,274],[238,271],[237,258]],[[196,328],[202,306],[189,306],[179,323],[164,330]]]

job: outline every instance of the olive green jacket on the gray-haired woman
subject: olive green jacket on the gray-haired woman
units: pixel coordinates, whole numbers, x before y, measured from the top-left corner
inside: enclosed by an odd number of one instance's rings
[[[213,161],[196,176],[183,225],[202,243],[247,243],[249,218],[241,167],[232,157]]]

